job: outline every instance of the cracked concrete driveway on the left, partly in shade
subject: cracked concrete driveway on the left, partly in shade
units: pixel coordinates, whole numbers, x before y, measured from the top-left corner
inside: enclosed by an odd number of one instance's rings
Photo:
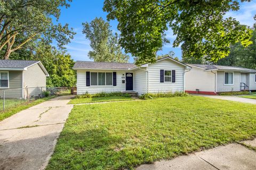
[[[0,122],[0,169],[44,169],[73,105],[60,96]]]

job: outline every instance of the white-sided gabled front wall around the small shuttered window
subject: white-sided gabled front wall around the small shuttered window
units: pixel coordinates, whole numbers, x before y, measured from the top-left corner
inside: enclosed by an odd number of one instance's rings
[[[175,70],[175,82],[160,82],[160,70]],[[149,64],[147,71],[149,93],[184,91],[185,66],[166,59]]]

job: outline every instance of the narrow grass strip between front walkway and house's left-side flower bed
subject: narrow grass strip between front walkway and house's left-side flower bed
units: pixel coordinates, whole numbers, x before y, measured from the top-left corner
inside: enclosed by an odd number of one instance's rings
[[[123,101],[123,100],[134,100],[134,99],[132,99],[131,97],[123,97],[123,96],[75,98],[70,100],[68,104],[82,104],[82,103],[95,103],[95,102],[105,102],[105,101]]]

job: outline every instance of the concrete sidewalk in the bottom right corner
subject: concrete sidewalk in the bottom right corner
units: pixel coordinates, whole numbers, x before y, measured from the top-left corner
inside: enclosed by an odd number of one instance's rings
[[[256,139],[244,141],[243,143],[256,148]],[[137,170],[255,170],[255,160],[255,151],[234,143],[187,156],[179,156],[172,160],[162,160],[154,164],[141,165]]]

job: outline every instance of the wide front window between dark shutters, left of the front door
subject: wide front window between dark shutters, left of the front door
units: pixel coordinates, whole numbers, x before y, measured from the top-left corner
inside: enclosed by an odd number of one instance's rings
[[[113,73],[91,72],[91,86],[113,85]]]

